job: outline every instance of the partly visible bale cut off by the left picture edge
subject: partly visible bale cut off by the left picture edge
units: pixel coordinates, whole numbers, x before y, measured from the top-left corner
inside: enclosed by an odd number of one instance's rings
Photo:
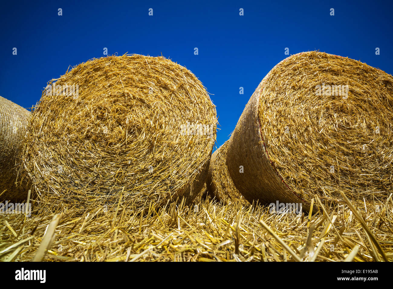
[[[27,182],[17,182],[23,139],[31,113],[0,96],[0,201],[20,201],[28,194]]]

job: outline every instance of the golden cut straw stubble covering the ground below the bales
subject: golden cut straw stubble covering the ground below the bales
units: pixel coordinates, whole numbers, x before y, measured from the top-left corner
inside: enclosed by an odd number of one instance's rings
[[[363,200],[315,200],[310,215],[209,197],[149,204],[145,213],[92,206],[48,214],[56,208],[33,203],[31,217],[2,219],[0,260],[393,261],[391,195],[379,212]]]

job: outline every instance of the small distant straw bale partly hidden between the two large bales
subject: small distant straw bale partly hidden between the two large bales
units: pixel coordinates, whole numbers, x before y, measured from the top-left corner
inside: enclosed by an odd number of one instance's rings
[[[226,165],[228,144],[229,140],[224,142],[211,156],[208,178],[206,180],[208,192],[212,197],[222,201],[224,204],[241,202],[243,205],[246,205],[248,202],[237,190],[228,172]]]

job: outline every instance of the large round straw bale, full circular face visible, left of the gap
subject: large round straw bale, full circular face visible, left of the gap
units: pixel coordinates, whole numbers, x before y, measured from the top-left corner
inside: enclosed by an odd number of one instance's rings
[[[191,202],[206,181],[216,124],[206,89],[183,66],[143,55],[93,59],[42,93],[24,164],[45,202]]]

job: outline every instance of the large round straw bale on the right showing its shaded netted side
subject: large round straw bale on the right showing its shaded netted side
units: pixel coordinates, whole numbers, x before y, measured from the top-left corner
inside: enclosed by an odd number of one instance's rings
[[[248,200],[301,202],[314,194],[373,200],[392,190],[393,78],[353,59],[292,55],[261,81],[228,148]],[[241,167],[244,171],[241,171]]]

